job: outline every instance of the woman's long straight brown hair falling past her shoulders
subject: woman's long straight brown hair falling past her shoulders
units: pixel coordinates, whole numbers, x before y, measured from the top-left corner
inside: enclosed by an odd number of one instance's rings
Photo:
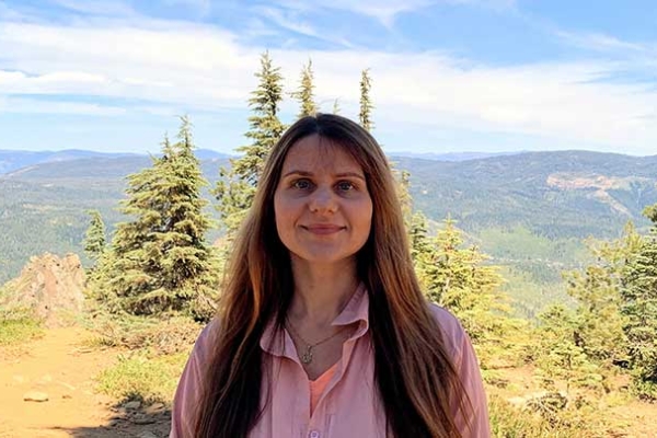
[[[360,164],[372,199],[370,235],[357,255],[359,279],[369,293],[374,380],[390,435],[459,437],[451,406],[468,405],[440,326],[415,277],[394,178],[377,141],[356,123],[319,114],[295,123],[267,159],[251,211],[233,246],[220,300],[220,328],[204,370],[195,436],[246,437],[261,405],[263,351],[260,339],[274,321],[283,333],[293,278],[278,239],[274,193],[285,158],[300,139],[316,134]],[[268,396],[263,397],[268,400]],[[465,418],[465,412],[461,412]]]

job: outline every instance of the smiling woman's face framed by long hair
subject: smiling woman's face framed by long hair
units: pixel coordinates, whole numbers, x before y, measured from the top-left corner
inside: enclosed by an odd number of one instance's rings
[[[278,237],[292,257],[336,263],[367,241],[372,199],[360,165],[339,147],[312,135],[289,150],[274,195]]]

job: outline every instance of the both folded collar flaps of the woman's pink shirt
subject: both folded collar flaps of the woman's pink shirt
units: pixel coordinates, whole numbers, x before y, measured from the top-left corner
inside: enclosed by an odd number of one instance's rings
[[[347,306],[333,320],[331,325],[348,325],[358,322],[358,328],[349,339],[356,339],[362,336],[369,327],[369,296],[365,285],[360,284]],[[275,319],[269,321],[261,336],[261,348],[274,356],[288,356],[286,351],[293,351],[293,343],[290,336],[284,332],[285,336],[276,333]]]

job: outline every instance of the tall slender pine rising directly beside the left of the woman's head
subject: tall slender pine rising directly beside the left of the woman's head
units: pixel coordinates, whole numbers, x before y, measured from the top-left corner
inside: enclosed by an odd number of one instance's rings
[[[285,130],[278,118],[283,100],[283,77],[280,68],[273,66],[268,53],[263,54],[261,70],[255,76],[260,83],[249,100],[254,114],[249,117],[251,129],[246,132],[252,143],[238,149],[243,155],[231,160],[230,170],[220,169],[221,180],[212,191],[229,241],[253,203],[265,159]]]

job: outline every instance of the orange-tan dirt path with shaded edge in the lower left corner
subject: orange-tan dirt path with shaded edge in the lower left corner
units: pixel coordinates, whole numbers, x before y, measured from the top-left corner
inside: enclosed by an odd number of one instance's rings
[[[84,347],[89,336],[79,327],[53,328],[24,354],[0,354],[0,438],[166,436],[168,412],[126,411],[94,392],[94,377],[118,351]],[[48,401],[24,401],[31,391]]]

